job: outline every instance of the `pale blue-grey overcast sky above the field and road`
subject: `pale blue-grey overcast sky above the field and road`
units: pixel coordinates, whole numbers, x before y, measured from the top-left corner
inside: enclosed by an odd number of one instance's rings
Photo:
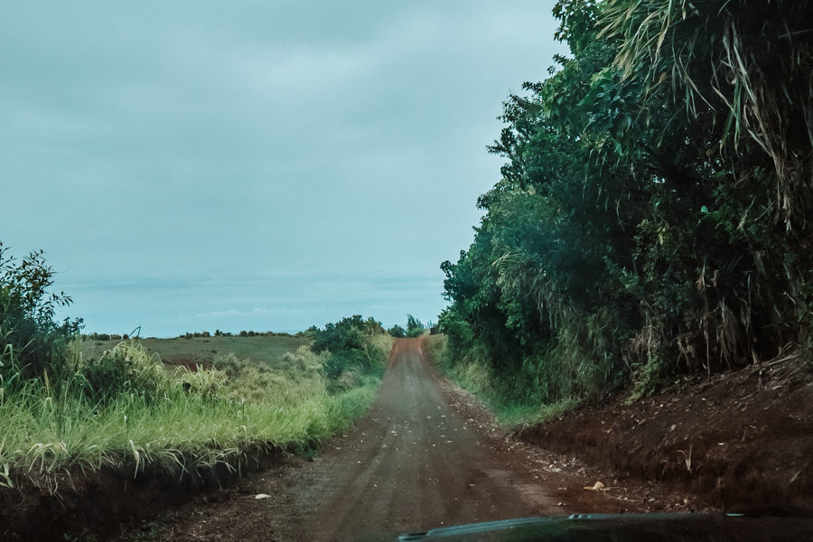
[[[87,332],[435,321],[553,4],[0,0],[0,241]]]

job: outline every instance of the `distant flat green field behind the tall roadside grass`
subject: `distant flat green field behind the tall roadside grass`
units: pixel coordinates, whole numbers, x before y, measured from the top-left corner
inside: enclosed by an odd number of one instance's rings
[[[178,337],[174,339],[141,339],[148,352],[157,353],[168,363],[192,362],[209,366],[219,355],[234,354],[238,358],[264,363],[274,367],[285,352],[293,352],[309,342],[306,337],[286,335],[257,335],[255,337]],[[105,350],[113,349],[119,342],[81,342],[81,354],[87,360],[99,358]]]

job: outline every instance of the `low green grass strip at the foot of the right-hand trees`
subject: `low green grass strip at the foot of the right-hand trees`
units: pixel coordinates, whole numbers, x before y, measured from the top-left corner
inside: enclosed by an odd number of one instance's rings
[[[565,412],[580,405],[579,399],[575,397],[568,397],[554,403],[519,402],[508,397],[505,391],[495,383],[495,379],[491,377],[491,369],[485,360],[481,360],[475,355],[468,355],[463,360],[453,362],[450,352],[446,348],[444,334],[427,336],[426,345],[437,368],[458,386],[480,397],[502,427],[512,428],[546,422],[562,416]]]

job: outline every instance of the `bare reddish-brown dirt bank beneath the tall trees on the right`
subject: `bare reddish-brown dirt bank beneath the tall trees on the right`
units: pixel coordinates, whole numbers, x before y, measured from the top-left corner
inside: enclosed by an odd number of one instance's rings
[[[715,509],[813,511],[813,384],[795,356],[623,397],[518,432]]]

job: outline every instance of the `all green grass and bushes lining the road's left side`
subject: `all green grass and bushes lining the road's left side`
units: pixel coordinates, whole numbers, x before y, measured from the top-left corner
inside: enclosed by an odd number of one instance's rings
[[[20,262],[0,245],[0,491],[106,467],[137,477],[311,455],[366,411],[388,358],[390,337],[360,316],[313,328],[273,367],[225,353],[211,369],[168,369],[137,339],[87,358],[72,341],[81,322],[53,322],[70,298],[49,293],[51,277],[42,253]]]

